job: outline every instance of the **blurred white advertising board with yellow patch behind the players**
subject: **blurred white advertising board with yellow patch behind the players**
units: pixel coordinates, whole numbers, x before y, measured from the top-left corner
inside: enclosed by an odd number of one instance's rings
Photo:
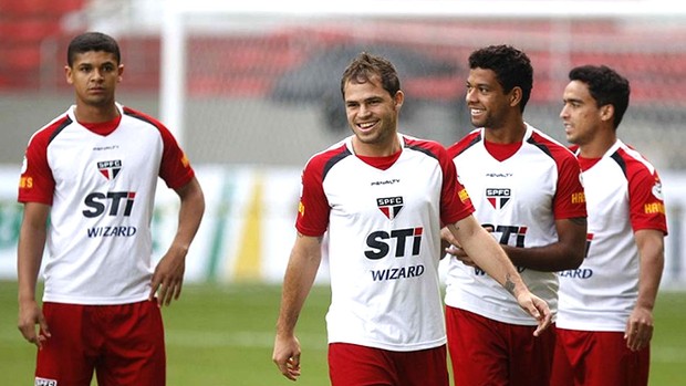
[[[187,258],[188,282],[279,283],[294,240],[300,168],[200,165],[207,210]],[[17,272],[21,206],[18,168],[0,167],[0,279]],[[686,173],[663,173],[671,234],[663,286],[686,289]],[[154,254],[159,259],[176,232],[178,200],[160,182],[153,217]],[[445,274],[445,271],[443,272]],[[329,280],[324,259],[319,282]]]

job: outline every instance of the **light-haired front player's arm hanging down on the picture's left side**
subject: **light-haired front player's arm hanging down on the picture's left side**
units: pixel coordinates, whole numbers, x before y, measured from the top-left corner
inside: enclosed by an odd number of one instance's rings
[[[283,278],[272,359],[281,374],[291,380],[300,376],[301,350],[300,342],[295,337],[295,324],[314,283],[322,260],[321,248],[322,238],[303,236],[299,232]]]

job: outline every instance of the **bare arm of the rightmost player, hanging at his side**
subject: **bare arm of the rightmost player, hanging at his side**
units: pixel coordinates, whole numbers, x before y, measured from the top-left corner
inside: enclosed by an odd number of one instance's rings
[[[653,307],[665,265],[665,234],[661,230],[643,229],[635,232],[640,257],[638,299],[632,311],[624,338],[632,351],[640,351],[653,337]]]

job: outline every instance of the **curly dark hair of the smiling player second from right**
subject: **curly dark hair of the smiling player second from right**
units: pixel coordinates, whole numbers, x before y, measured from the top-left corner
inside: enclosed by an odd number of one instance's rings
[[[522,91],[519,108],[524,111],[531,88],[533,88],[533,67],[527,54],[511,45],[489,45],[469,55],[469,69],[491,70],[502,90],[509,93],[514,87]]]

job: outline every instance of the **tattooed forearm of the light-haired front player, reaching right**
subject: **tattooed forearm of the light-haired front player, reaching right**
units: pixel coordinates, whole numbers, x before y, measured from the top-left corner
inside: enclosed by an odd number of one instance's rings
[[[538,336],[550,325],[552,315],[548,304],[529,291],[500,244],[474,216],[467,216],[447,228],[455,238],[451,243],[459,246],[476,264],[510,292],[524,311],[539,321],[534,335]]]

